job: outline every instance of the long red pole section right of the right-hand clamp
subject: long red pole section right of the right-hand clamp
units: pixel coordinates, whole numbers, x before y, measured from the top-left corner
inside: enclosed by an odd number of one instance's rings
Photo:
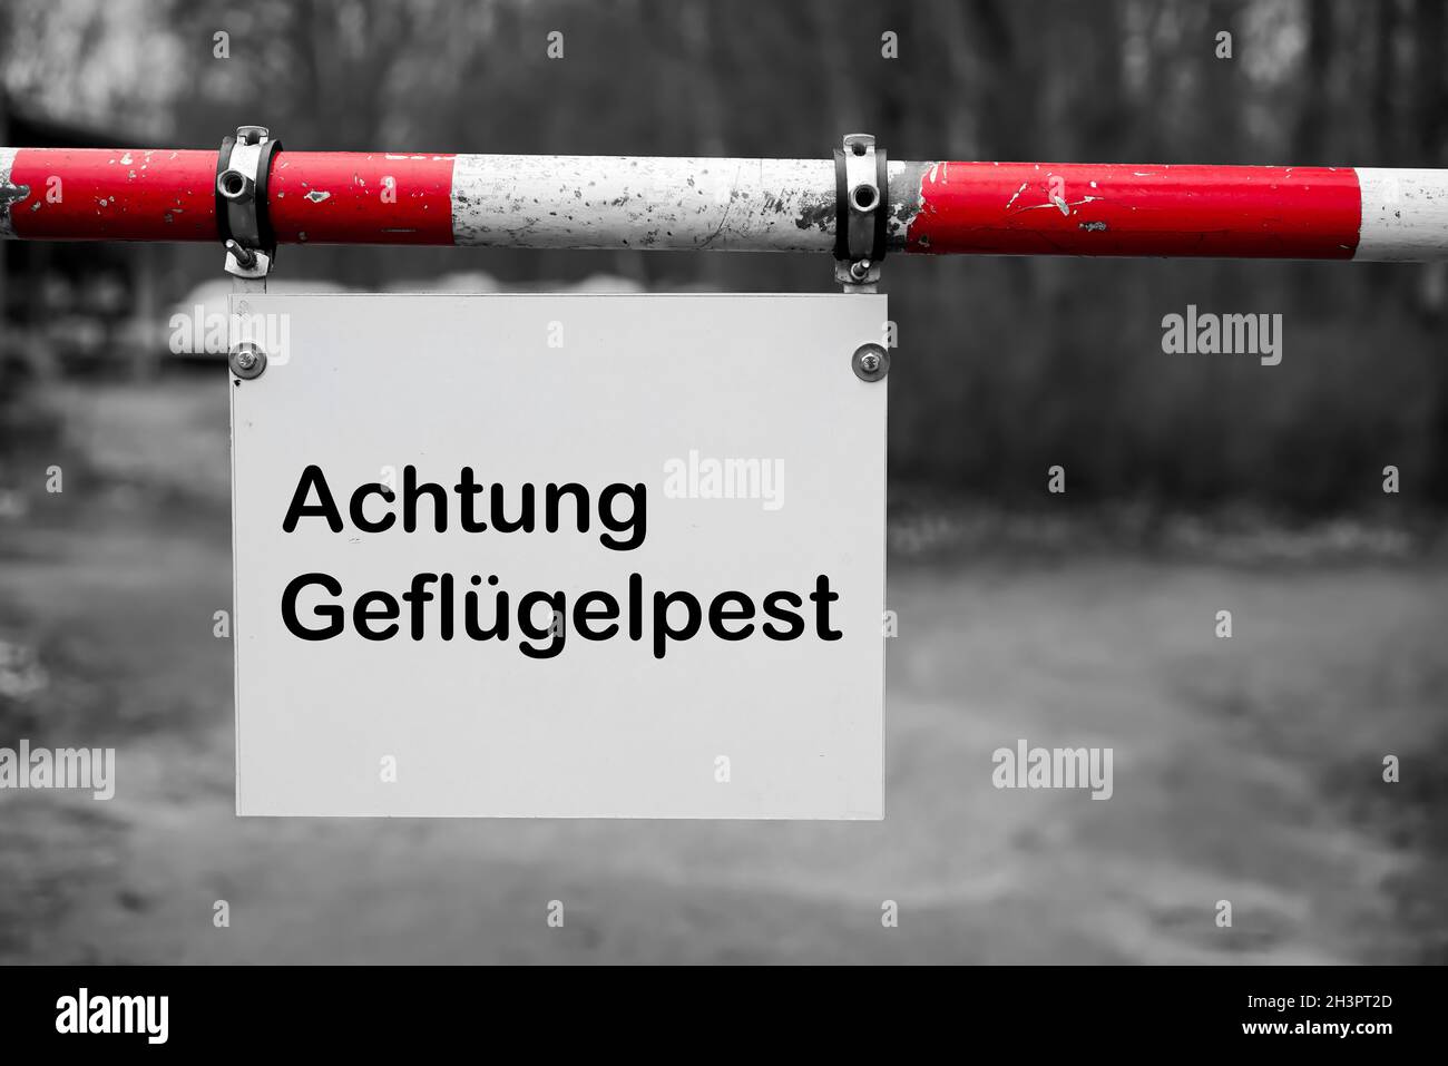
[[[1357,172],[1322,167],[931,164],[906,252],[1351,259]]]

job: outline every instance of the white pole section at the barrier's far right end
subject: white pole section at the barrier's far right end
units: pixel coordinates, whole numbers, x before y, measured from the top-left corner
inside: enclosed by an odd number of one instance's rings
[[[1354,259],[1448,256],[1448,171],[1358,167],[1363,229]]]

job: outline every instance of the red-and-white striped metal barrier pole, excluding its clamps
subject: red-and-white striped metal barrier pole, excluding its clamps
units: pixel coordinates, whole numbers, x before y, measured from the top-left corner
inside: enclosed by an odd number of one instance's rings
[[[0,148],[0,236],[210,240],[219,154]],[[1448,258],[1448,171],[1034,162],[888,165],[891,252]],[[830,159],[277,151],[279,243],[822,252]]]

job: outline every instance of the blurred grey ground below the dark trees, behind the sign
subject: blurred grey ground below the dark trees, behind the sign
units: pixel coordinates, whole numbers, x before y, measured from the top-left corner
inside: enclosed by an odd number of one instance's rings
[[[1448,959],[1431,552],[892,530],[879,824],[237,820],[222,372],[49,410],[56,455],[7,453],[0,743],[114,744],[117,792],[0,792],[0,962]],[[1016,737],[1114,747],[1115,797],[992,789]]]

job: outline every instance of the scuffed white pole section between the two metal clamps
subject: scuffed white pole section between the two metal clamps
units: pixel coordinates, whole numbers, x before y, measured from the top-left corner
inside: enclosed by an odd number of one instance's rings
[[[828,252],[831,159],[459,155],[453,242]]]

